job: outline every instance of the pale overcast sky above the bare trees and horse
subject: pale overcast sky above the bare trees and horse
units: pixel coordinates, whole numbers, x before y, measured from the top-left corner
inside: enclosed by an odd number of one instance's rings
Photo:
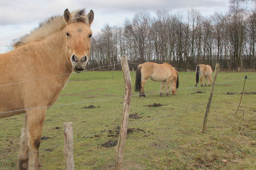
[[[190,8],[200,10],[208,16],[214,12],[228,11],[229,0],[1,0],[0,2],[0,53],[5,53],[6,45],[28,34],[40,21],[50,16],[86,8],[93,10],[93,34],[97,34],[108,23],[111,26],[122,25],[125,18],[133,18],[136,12],[147,10],[152,15],[157,10],[170,12],[184,11]]]

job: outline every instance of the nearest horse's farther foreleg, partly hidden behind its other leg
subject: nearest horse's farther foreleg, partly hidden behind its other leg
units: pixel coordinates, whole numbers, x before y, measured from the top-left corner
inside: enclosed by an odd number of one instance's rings
[[[17,168],[19,170],[28,169],[28,124],[27,124],[27,115],[25,115],[24,127],[22,128],[21,134],[21,147],[18,157]]]

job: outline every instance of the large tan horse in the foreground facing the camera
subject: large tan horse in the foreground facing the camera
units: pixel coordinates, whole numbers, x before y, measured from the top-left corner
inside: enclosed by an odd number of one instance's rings
[[[18,169],[40,169],[39,146],[47,109],[72,71],[83,71],[91,48],[94,13],[54,16],[0,54],[0,118],[26,113]],[[10,70],[11,69],[11,70]]]

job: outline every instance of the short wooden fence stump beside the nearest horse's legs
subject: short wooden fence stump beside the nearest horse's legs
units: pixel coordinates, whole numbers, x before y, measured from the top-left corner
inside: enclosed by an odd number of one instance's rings
[[[74,170],[73,156],[73,124],[72,122],[63,123],[64,132],[64,156],[66,170]]]

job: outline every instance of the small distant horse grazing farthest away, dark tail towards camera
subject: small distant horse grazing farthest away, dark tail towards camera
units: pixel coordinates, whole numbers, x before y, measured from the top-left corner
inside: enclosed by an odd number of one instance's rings
[[[198,84],[199,81],[199,74],[201,75],[201,86],[203,86],[203,79],[204,85],[206,86],[206,78],[208,78],[209,86],[212,82],[212,67],[210,65],[200,64],[196,67],[196,83],[195,86]]]

